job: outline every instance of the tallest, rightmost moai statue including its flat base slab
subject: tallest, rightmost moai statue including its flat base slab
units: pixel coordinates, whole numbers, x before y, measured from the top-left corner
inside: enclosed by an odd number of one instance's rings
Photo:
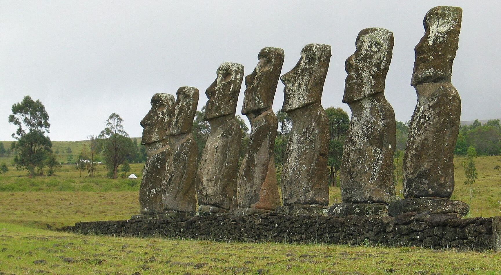
[[[461,113],[459,95],[450,83],[461,15],[461,8],[435,7],[424,18],[425,34],[415,48],[411,80],[418,99],[403,159],[405,199],[390,205],[390,215],[465,215],[469,210],[461,201],[448,200],[454,190],[453,151]]]

